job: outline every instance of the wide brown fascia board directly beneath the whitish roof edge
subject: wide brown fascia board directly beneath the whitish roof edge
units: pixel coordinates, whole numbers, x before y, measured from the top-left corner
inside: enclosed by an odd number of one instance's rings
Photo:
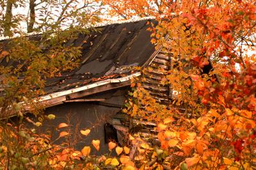
[[[129,86],[131,84],[131,81],[125,81],[125,82],[116,82],[116,83],[111,83],[111,84],[105,84],[102,86],[97,86],[92,89],[85,89],[84,91],[79,91],[76,93],[72,93],[70,95],[67,95],[68,100],[74,99],[74,98],[80,98],[80,97],[85,97],[88,95],[93,95],[95,93],[100,93],[102,91],[107,91],[109,89],[116,89],[116,88],[122,88],[124,86]]]

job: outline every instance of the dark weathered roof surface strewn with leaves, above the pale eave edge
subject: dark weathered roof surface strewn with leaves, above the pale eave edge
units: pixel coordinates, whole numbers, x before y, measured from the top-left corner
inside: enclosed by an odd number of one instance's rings
[[[50,79],[45,91],[53,93],[102,79],[124,77],[132,66],[142,66],[155,52],[148,21],[100,27],[101,33],[80,34],[68,42],[81,47],[81,65],[73,72]]]

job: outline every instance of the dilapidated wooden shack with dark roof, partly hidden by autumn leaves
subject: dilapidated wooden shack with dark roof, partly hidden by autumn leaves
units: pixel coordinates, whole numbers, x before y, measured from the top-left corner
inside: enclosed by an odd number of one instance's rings
[[[141,75],[132,68],[160,67],[167,72],[171,61],[170,54],[166,54],[162,47],[156,49],[150,42],[148,22],[154,20],[109,24],[100,27],[101,33],[80,34],[68,42],[81,47],[81,66],[47,81],[47,95],[39,101],[46,108],[45,114],[54,114],[56,118],[46,121],[40,132],[52,134],[54,140],[60,133],[56,127],[68,123],[74,134],[72,144],[75,148],[81,150],[93,139],[100,139],[97,154],[106,153],[109,140],[122,143],[122,134],[131,128],[122,107],[131,89],[132,77]],[[170,88],[159,84],[166,72],[153,69],[143,84],[159,102],[172,97]],[[90,128],[91,133],[80,140],[79,130],[86,128]]]

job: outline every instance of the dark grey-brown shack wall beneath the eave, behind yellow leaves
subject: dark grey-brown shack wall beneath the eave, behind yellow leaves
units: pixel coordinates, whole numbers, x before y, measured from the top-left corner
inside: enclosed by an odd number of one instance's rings
[[[81,150],[84,146],[91,146],[92,155],[102,155],[108,153],[108,143],[105,142],[105,123],[112,123],[116,113],[121,111],[127,99],[128,87],[112,89],[104,91],[86,98],[106,99],[104,102],[69,102],[56,105],[45,109],[45,116],[54,114],[54,120],[44,121],[41,127],[35,127],[31,123],[27,123],[30,128],[36,128],[38,134],[50,134],[51,141],[55,141],[61,131],[67,131],[67,128],[57,128],[60,123],[70,125],[70,141],[61,137],[55,144],[69,142],[72,147]],[[35,116],[29,116],[31,120],[38,121]],[[89,128],[91,130],[88,136],[81,135],[80,130]],[[110,134],[113,135],[113,134]],[[113,136],[115,138],[115,136]],[[100,139],[100,151],[96,151],[92,146],[93,139]]]

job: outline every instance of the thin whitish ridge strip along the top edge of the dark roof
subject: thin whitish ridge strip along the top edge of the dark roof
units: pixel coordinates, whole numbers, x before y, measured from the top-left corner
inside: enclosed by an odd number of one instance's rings
[[[132,23],[132,22],[138,22],[138,21],[141,21],[141,20],[150,20],[150,19],[156,19],[155,17],[141,17],[141,18],[137,18],[137,19],[127,19],[127,20],[110,20],[110,21],[107,21],[107,22],[100,22],[100,23],[97,23],[97,24],[88,24],[88,28],[90,27],[104,27],[104,26],[111,26],[111,25],[115,25],[115,24],[126,24],[126,23]],[[34,35],[42,35],[44,34],[43,32],[37,32],[37,33],[26,33],[25,36],[34,36]],[[16,36],[13,36],[12,38],[16,38],[16,37],[19,37],[20,35],[16,35]],[[11,39],[10,37],[8,36],[0,36],[0,41],[2,40],[9,40]]]

